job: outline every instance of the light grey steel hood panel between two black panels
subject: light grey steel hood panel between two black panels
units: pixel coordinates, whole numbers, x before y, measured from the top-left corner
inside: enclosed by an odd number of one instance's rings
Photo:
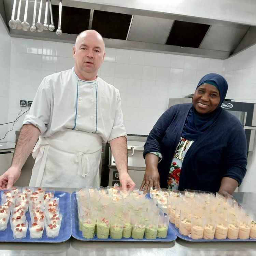
[[[173,22],[173,19],[134,15],[128,40],[165,44]]]

